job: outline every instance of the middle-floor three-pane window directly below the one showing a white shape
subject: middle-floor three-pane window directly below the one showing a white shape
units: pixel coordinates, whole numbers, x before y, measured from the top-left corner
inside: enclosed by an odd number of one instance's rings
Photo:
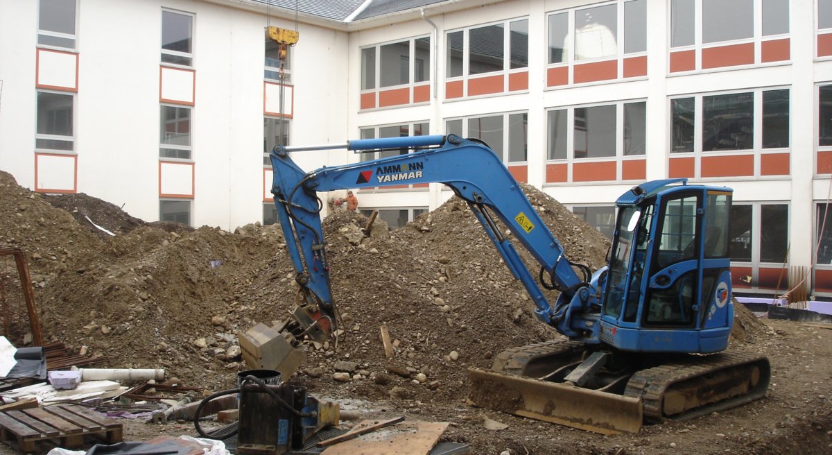
[[[547,159],[550,163],[547,166],[563,171],[557,178],[547,176],[547,181],[644,179],[646,107],[646,101],[622,101],[548,111]],[[587,167],[581,164],[585,161],[607,164]],[[621,166],[616,164],[624,161],[632,162]],[[578,165],[577,168],[575,165]]]

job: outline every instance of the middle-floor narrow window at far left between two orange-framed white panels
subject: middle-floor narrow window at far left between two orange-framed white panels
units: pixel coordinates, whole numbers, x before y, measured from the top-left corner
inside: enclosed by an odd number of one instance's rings
[[[35,147],[42,151],[73,151],[75,96],[51,91],[37,92]]]

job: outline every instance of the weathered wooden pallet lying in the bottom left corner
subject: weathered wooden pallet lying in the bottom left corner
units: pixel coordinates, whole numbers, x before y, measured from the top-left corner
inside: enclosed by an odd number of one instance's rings
[[[87,436],[102,438],[108,444],[120,443],[121,423],[75,404],[0,413],[0,440],[21,452],[36,452],[41,442],[78,448]]]

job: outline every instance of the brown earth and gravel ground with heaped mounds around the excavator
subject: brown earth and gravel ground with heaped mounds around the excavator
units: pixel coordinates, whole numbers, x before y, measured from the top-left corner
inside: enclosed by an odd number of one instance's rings
[[[556,200],[523,189],[570,259],[604,264],[606,238]],[[103,368],[165,368],[176,383],[234,388],[237,373],[250,369],[237,334],[278,323],[298,302],[279,226],[195,230],[146,223],[123,209],[89,195],[37,194],[0,172],[0,246],[27,253],[47,342],[86,346],[105,356]],[[758,319],[741,305],[730,349],[765,354],[773,370],[769,393],[755,403],[617,436],[478,408],[467,399],[468,368],[489,368],[503,349],[559,335],[534,318],[525,290],[462,201],[452,198],[399,230],[376,221],[369,237],[365,223],[346,210],[324,220],[344,332],[337,343],[304,344],[305,363],[290,378],[316,398],[362,418],[448,422],[442,439],[467,443],[471,453],[832,453],[832,328]],[[22,346],[28,320],[15,279],[13,260],[0,260],[6,335]],[[382,325],[393,339],[391,358]],[[192,423],[121,423],[130,441],[196,435]]]

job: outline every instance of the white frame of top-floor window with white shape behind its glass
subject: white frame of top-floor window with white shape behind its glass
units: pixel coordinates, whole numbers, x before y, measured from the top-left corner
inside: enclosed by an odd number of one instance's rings
[[[561,68],[567,67],[568,68],[568,82],[565,85],[557,85],[557,86],[547,86],[546,90],[557,90],[562,89],[565,87],[573,87],[573,86],[587,86],[587,85],[597,85],[597,84],[608,84],[620,81],[624,78],[624,60],[626,58],[632,57],[646,57],[647,56],[647,40],[645,39],[645,48],[643,51],[633,51],[633,52],[626,52],[626,3],[636,2],[638,0],[612,0],[607,2],[598,2],[598,3],[589,3],[589,4],[581,4],[574,7],[567,7],[564,9],[558,9],[554,11],[546,12],[546,21],[544,22],[544,27],[546,30],[546,55],[545,58],[545,65],[546,69],[552,68]],[[646,0],[641,0],[646,1]],[[592,57],[592,58],[582,58],[580,60],[575,58],[575,15],[577,12],[590,9],[593,7],[605,7],[609,5],[616,5],[616,45],[617,45],[617,52],[615,55],[603,56],[603,57]],[[569,47],[564,49],[562,62],[550,62],[551,57],[551,49],[550,42],[551,42],[551,29],[549,27],[550,18],[552,16],[557,16],[558,14],[566,14],[567,15],[567,39],[570,40]],[[647,5],[645,5],[645,36],[647,32]],[[595,81],[595,82],[573,82],[573,73],[574,67],[576,65],[583,65],[586,63],[592,62],[607,62],[615,60],[617,62],[617,77],[615,79],[605,79],[602,81]],[[646,79],[645,76],[636,76],[636,77],[626,77],[627,80],[639,80],[639,79]]]

